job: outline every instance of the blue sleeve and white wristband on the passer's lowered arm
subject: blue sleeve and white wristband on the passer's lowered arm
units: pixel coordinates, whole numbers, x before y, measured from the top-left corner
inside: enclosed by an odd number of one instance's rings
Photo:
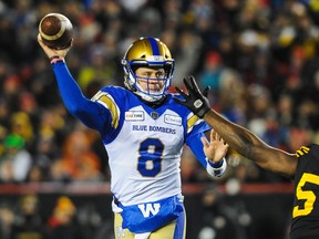
[[[209,159],[206,157],[206,155],[204,153],[203,143],[200,141],[200,137],[206,137],[206,136],[204,133],[196,134],[196,135],[186,139],[186,145],[192,149],[192,152],[196,156],[197,160],[200,162],[200,164],[206,168],[206,172],[210,176],[220,177],[226,172],[227,162],[226,162],[225,157],[217,164],[209,162]]]

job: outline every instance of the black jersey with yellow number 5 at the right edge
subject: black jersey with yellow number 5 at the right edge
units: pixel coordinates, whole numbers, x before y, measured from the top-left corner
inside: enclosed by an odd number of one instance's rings
[[[302,146],[296,156],[290,239],[319,239],[319,145]]]

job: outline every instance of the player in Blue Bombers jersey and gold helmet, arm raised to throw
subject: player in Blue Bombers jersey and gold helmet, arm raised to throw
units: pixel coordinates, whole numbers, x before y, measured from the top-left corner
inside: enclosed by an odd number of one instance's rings
[[[179,164],[186,143],[213,177],[226,169],[228,145],[168,93],[174,59],[158,39],[141,38],[127,49],[122,65],[125,87],[102,87],[86,98],[64,58],[70,48],[53,50],[41,38],[64,105],[86,126],[100,132],[109,155],[115,238],[185,238],[185,209]],[[177,96],[178,97],[178,96]],[[210,138],[212,139],[212,138]]]

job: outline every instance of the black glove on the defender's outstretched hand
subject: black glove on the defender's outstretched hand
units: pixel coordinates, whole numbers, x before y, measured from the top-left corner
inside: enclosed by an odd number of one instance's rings
[[[174,97],[174,101],[185,105],[189,111],[203,118],[207,111],[210,110],[207,94],[209,87],[207,86],[202,93],[196,84],[194,76],[189,75],[187,79],[183,79],[183,82],[188,91],[188,94],[184,93],[179,87],[175,87],[176,91],[185,98],[185,101]]]

